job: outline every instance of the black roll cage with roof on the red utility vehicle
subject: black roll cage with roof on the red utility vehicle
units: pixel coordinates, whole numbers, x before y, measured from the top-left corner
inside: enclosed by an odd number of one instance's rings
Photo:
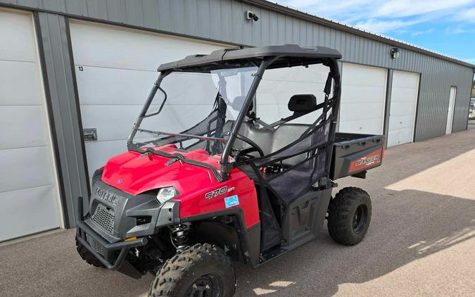
[[[307,153],[308,158],[305,158],[305,161],[311,160],[316,156],[324,156],[323,163],[318,162],[318,166],[322,167],[319,170],[319,179],[321,177],[328,177],[330,170],[330,160],[332,153],[332,145],[334,142],[334,134],[336,130],[336,120],[338,118],[338,107],[340,101],[341,93],[341,84],[340,84],[340,75],[338,71],[337,60],[341,58],[341,54],[338,51],[333,49],[328,49],[326,47],[312,47],[312,48],[302,48],[293,44],[286,44],[284,46],[265,46],[256,49],[223,49],[218,51],[213,51],[209,55],[195,55],[187,56],[186,58],[175,61],[172,63],[166,63],[160,65],[158,71],[160,75],[153,85],[153,88],[146,99],[146,103],[139,113],[139,117],[134,123],[134,128],[132,133],[129,136],[127,141],[127,147],[132,151],[139,151],[141,153],[156,153],[160,156],[165,156],[168,158],[177,158],[184,161],[185,163],[191,163],[193,165],[203,166],[210,169],[213,172],[213,175],[219,180],[227,180],[229,171],[233,168],[239,167],[241,165],[247,164],[251,165],[256,174],[259,174],[258,168],[262,166],[272,165],[273,163],[281,163],[283,160],[288,158],[293,158],[299,154]],[[196,136],[182,133],[166,133],[160,131],[152,131],[141,129],[140,124],[144,118],[148,118],[153,115],[158,115],[163,109],[163,105],[166,101],[167,94],[160,87],[162,80],[170,75],[171,72],[209,72],[217,68],[238,68],[243,67],[243,65],[256,65],[258,66],[257,72],[255,72],[253,82],[251,87],[246,94],[244,99],[243,106],[239,111],[232,129],[229,131],[229,138],[226,140],[219,137],[206,137],[206,136]],[[329,67],[329,76],[324,87],[324,101],[315,105],[315,108],[312,110],[305,110],[304,112],[296,111],[293,115],[277,120],[270,124],[263,122],[259,118],[256,118],[255,113],[251,113],[249,110],[255,99],[255,94],[262,80],[265,70],[267,69],[276,69],[276,68],[288,68],[293,66],[308,66],[313,64],[323,64]],[[331,89],[333,82],[333,90]],[[157,91],[162,91],[165,94],[165,100],[161,104],[159,110],[156,113],[147,114],[148,108],[151,106],[154,96]],[[331,92],[333,91],[333,92]],[[330,97],[332,93],[332,96]],[[217,99],[219,97],[219,92],[217,94]],[[216,110],[219,112],[219,104],[216,104]],[[322,113],[315,120],[315,122],[310,125],[310,127],[303,133],[296,141],[293,141],[291,144],[280,148],[278,151],[274,151],[267,156],[260,156],[253,158],[251,160],[244,160],[240,162],[232,161],[229,162],[230,153],[232,153],[232,148],[236,139],[239,139],[239,129],[243,125],[243,122],[246,122],[246,118],[249,120],[258,123],[265,129],[274,129],[279,125],[285,124],[296,118],[300,118],[303,115],[306,115],[312,111],[322,109]],[[209,116],[208,116],[209,117]],[[224,124],[224,123],[223,123]],[[201,139],[203,141],[217,141],[224,144],[224,150],[222,151],[222,156],[220,160],[220,170],[217,171],[211,165],[200,163],[194,160],[186,160],[179,153],[165,153],[163,151],[157,151],[153,148],[147,148],[146,151],[141,150],[137,146],[134,146],[133,139],[136,136],[137,132],[151,132],[156,134],[165,134],[167,137],[194,137]],[[319,134],[319,141],[315,139],[315,134]],[[318,138],[317,137],[317,138]],[[313,153],[313,154],[312,154]],[[322,158],[320,158],[322,159]],[[315,163],[315,162],[314,162]],[[300,163],[298,165],[302,165]],[[296,165],[296,166],[298,166]],[[317,164],[313,165],[313,167]],[[294,166],[295,167],[295,166]],[[313,170],[312,176],[315,173],[315,168]],[[313,179],[315,178],[310,178]]]

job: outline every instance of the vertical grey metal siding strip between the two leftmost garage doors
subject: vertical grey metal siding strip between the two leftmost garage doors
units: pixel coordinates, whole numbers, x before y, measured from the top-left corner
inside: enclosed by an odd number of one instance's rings
[[[63,197],[68,225],[75,226],[75,199],[87,196],[87,175],[82,158],[82,135],[75,101],[75,82],[70,64],[66,20],[54,13],[38,13],[37,32],[44,53],[44,80],[53,113],[54,131],[61,160]],[[87,208],[86,208],[87,209]]]

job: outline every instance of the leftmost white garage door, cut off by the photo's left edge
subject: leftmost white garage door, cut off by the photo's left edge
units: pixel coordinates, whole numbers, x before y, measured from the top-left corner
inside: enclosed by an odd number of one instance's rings
[[[0,241],[60,226],[32,15],[0,10]]]

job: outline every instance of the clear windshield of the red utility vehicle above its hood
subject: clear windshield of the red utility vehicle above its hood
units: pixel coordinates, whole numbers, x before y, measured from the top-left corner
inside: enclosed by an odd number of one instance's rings
[[[165,75],[130,144],[141,150],[168,145],[219,155],[257,70],[250,66]]]

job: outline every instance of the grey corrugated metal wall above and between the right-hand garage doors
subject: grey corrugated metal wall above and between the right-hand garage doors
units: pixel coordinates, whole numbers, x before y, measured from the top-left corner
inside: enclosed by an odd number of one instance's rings
[[[259,6],[236,0],[0,0],[0,3],[246,46],[285,43],[329,46],[341,51],[343,61],[422,73],[416,141],[445,134],[451,85],[457,86],[453,131],[467,127],[473,69],[407,49],[400,49],[400,58],[393,60],[389,56],[391,44]],[[246,20],[244,13],[248,10],[257,13],[260,20]]]

